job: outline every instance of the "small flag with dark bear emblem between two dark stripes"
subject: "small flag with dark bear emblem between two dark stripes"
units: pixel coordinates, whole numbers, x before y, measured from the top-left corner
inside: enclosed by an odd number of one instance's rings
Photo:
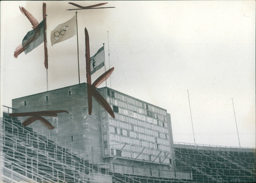
[[[91,75],[98,71],[101,67],[104,66],[105,63],[105,52],[104,46],[102,46],[95,55],[90,57],[90,65],[91,65]]]

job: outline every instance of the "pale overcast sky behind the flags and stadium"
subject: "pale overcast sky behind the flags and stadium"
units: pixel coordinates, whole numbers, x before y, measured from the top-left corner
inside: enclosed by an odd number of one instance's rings
[[[51,46],[51,31],[75,15],[71,1],[1,1],[1,105],[46,91],[44,44],[14,58],[46,3],[49,90],[78,84],[76,36]],[[173,140],[255,147],[255,1],[72,1],[78,10],[80,80],[86,82],[85,36],[94,55],[105,43],[111,88],[171,114]],[[107,33],[108,31],[108,33]],[[109,47],[108,47],[109,38]],[[92,75],[92,82],[104,67]],[[110,88],[110,80],[107,85]],[[103,83],[99,88],[105,87]],[[232,99],[236,112],[236,121]]]

